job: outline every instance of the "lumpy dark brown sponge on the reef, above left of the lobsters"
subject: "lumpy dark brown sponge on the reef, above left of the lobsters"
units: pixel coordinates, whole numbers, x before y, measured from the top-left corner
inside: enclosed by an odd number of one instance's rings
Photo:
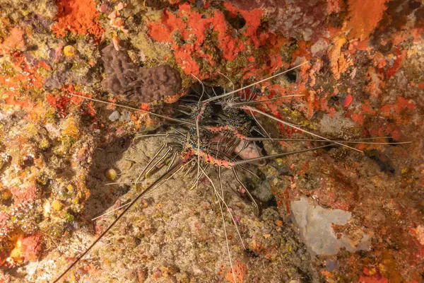
[[[141,68],[132,62],[125,47],[117,51],[111,43],[102,50],[102,61],[106,71],[102,87],[126,100],[149,103],[172,96],[181,88],[176,69],[168,65]]]

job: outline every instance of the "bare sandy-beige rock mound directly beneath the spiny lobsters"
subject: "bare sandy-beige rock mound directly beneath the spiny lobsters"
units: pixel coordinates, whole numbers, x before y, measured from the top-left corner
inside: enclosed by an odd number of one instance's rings
[[[93,156],[88,182],[92,197],[86,203],[86,218],[92,219],[131,200],[136,192],[125,183],[134,183],[137,173],[167,140],[147,138],[130,143],[131,139],[119,139],[102,146]],[[117,181],[122,183],[106,186],[110,180],[105,177],[105,170],[111,167],[119,172]],[[161,172],[143,182],[143,187]],[[78,265],[68,278],[76,277],[80,282],[233,282],[213,187],[202,182],[200,190],[189,190],[195,174],[171,178],[136,204],[126,214],[126,220],[85,260],[89,272],[81,271],[84,267]],[[208,174],[217,180],[216,172],[211,170]],[[243,180],[245,177],[240,174]],[[245,252],[235,226],[224,213],[233,265],[243,279],[237,282],[278,283],[302,278],[316,282],[318,275],[312,270],[306,247],[290,226],[276,225],[279,216],[275,207],[264,209],[262,216],[257,217],[252,205],[235,193],[239,184],[231,171],[223,171],[222,179],[225,200],[237,221],[242,241],[252,250],[250,255]],[[114,214],[97,219],[95,232],[100,233],[112,219]],[[50,282],[66,266],[66,258],[88,246],[93,238],[90,230],[79,229],[57,247],[64,257],[57,261],[57,255],[50,253],[40,260],[38,268],[28,268],[34,271],[27,278],[30,282]]]

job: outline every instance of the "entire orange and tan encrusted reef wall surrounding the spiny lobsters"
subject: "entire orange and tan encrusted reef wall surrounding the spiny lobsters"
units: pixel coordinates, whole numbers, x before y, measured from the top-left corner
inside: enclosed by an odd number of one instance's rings
[[[261,217],[228,204],[237,282],[423,282],[424,6],[418,0],[0,0],[0,282],[50,282],[105,229],[97,216],[160,140],[132,141],[198,80],[257,86],[261,111],[353,144],[269,161]],[[278,96],[303,96],[269,100]],[[86,98],[103,100],[98,103]],[[265,101],[266,100],[266,101]],[[120,103],[143,111],[119,108]],[[273,137],[300,131],[255,115]],[[306,136],[307,137],[307,136]],[[267,154],[305,148],[266,142]],[[233,282],[204,180],[143,200],[71,282]],[[319,237],[319,241],[317,238]]]

